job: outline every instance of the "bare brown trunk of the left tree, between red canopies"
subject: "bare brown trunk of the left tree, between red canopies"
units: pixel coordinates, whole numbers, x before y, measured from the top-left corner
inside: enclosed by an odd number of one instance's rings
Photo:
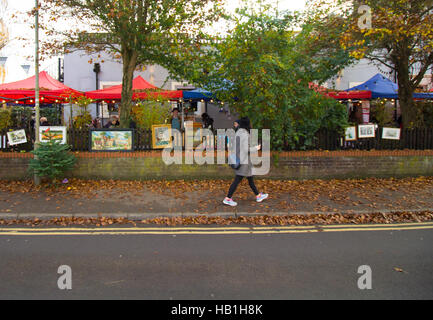
[[[122,79],[122,102],[120,104],[120,127],[129,128],[132,110],[132,81],[134,70],[137,67],[137,53],[132,50],[123,50],[123,79]]]

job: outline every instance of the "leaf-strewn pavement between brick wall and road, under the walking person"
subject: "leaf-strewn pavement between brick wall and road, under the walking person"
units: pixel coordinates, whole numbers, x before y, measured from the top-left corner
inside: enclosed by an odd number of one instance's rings
[[[56,217],[239,217],[263,215],[432,212],[433,178],[365,180],[258,180],[262,203],[243,181],[237,207],[222,203],[231,181],[83,181],[59,188],[1,182],[0,219]]]

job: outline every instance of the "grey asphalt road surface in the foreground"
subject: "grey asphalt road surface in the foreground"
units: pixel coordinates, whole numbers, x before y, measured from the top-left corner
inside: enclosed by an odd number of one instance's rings
[[[433,230],[0,233],[1,299],[433,299]],[[60,265],[72,290],[57,287]],[[372,270],[359,290],[358,267]]]

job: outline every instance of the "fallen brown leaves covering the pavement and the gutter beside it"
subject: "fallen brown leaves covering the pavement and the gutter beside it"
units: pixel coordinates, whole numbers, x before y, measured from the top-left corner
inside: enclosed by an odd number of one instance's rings
[[[0,225],[326,225],[433,221],[430,209],[433,208],[433,177],[257,180],[259,190],[270,194],[263,203],[254,201],[248,184],[243,181],[234,196],[239,203],[236,208],[221,204],[230,183],[228,180],[70,179],[57,186],[35,186],[31,181],[0,181],[0,218],[2,213],[28,213],[29,206],[41,208],[40,213],[88,212],[101,216],[0,220]],[[363,211],[370,213],[360,214]],[[103,218],[110,213],[165,213],[174,217],[142,221]],[[179,213],[184,217],[179,217]],[[188,213],[198,216],[188,217]],[[218,217],[215,213],[233,215]],[[243,216],[243,213],[254,215]]]

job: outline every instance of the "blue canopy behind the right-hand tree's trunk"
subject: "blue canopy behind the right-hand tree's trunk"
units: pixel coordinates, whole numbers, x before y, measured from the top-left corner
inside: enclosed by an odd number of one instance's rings
[[[398,99],[398,84],[385,78],[380,73],[359,86],[347,89],[346,91],[369,90],[372,99],[388,98]],[[433,99],[433,93],[414,93],[414,99]]]

